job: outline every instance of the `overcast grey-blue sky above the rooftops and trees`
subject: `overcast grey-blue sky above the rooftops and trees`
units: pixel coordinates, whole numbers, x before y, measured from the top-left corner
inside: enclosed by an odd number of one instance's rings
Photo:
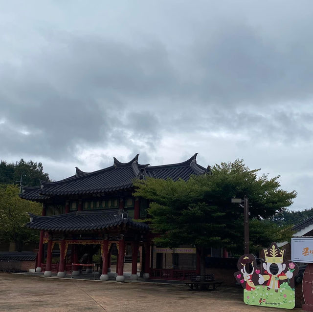
[[[0,4],[0,159],[243,158],[313,206],[312,0]]]

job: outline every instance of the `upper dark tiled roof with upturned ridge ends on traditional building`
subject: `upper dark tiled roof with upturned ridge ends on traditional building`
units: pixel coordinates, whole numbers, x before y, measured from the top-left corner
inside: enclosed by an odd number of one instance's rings
[[[107,193],[132,188],[134,178],[139,175],[173,180],[181,178],[187,181],[192,174],[205,172],[205,168],[197,164],[197,154],[185,162],[163,166],[140,165],[138,156],[128,163],[121,163],[113,158],[113,166],[90,173],[76,167],[74,176],[61,181],[41,181],[40,187],[23,187],[21,197],[40,201],[55,195]]]

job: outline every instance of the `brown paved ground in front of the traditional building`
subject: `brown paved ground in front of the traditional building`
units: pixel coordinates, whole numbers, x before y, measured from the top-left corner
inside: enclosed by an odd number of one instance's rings
[[[1,312],[271,312],[243,303],[241,288],[188,291],[184,285],[84,281],[0,273]],[[293,311],[301,311],[294,309]]]

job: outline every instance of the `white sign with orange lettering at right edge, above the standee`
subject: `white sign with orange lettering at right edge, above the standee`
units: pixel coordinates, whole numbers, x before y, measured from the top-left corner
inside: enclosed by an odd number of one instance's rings
[[[300,263],[313,263],[313,237],[291,238],[291,260]]]

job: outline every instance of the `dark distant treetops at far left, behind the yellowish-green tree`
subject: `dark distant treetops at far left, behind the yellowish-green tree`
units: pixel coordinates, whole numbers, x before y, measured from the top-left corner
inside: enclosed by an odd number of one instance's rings
[[[50,181],[48,173],[44,173],[42,163],[34,163],[33,161],[25,162],[21,159],[19,162],[7,163],[0,162],[0,184],[15,184],[20,181],[22,175],[23,185],[35,187],[39,185],[39,180]]]

